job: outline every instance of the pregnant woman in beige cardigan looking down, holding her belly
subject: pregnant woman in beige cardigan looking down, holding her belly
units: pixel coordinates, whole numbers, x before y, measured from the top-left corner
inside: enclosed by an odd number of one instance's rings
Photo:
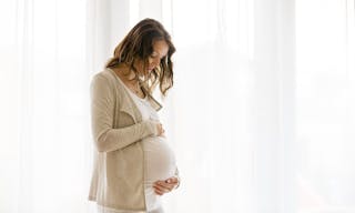
[[[95,161],[89,200],[100,213],[163,213],[161,195],[180,184],[152,97],[173,85],[175,48],[163,26],[140,21],[91,82]]]

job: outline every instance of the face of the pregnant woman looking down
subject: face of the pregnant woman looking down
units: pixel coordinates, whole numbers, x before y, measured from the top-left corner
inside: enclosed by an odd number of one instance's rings
[[[153,43],[153,52],[151,55],[148,57],[148,65],[144,71],[143,71],[144,62],[139,61],[139,64],[138,64],[139,72],[143,73],[144,75],[148,75],[152,70],[154,70],[160,65],[161,59],[166,57],[168,51],[169,51],[169,45],[166,41],[164,40],[155,41]]]

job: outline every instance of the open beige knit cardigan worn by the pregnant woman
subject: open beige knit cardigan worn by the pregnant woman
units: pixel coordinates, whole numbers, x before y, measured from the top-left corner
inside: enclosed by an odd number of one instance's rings
[[[95,143],[89,200],[118,210],[145,210],[144,163],[141,140],[156,135],[156,124],[142,115],[113,70],[91,82],[91,122]],[[144,90],[150,102],[161,105]]]

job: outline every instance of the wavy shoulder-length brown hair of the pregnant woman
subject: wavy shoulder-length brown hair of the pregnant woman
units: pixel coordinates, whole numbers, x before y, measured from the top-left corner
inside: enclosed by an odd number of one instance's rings
[[[153,52],[153,43],[159,40],[164,40],[169,45],[168,54],[161,59],[160,65],[144,78],[143,85],[152,93],[154,88],[159,84],[160,91],[165,95],[166,91],[171,89],[174,83],[173,62],[171,61],[171,57],[175,52],[175,47],[171,41],[169,32],[154,19],[143,19],[136,23],[114,49],[113,57],[108,61],[105,67],[115,68],[119,64],[124,63],[138,78],[134,61],[136,59],[142,60],[144,62],[143,69],[145,70],[148,59]]]

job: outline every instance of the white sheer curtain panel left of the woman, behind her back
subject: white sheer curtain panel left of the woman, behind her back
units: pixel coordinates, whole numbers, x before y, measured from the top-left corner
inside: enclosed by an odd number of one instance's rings
[[[88,212],[87,2],[0,1],[0,212]]]

